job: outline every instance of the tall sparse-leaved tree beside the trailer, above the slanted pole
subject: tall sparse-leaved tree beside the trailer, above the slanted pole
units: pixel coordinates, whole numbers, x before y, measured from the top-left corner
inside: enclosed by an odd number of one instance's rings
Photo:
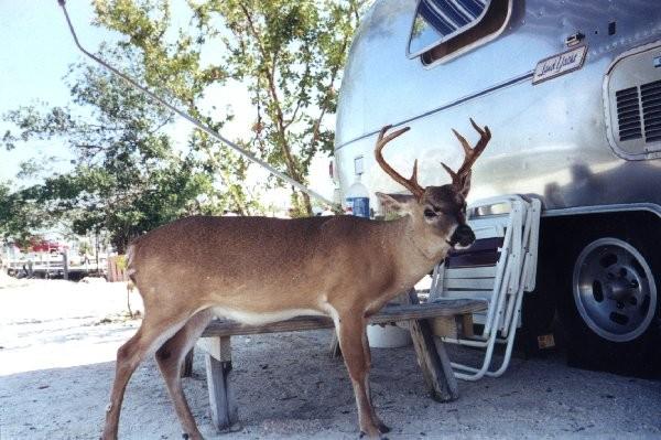
[[[140,47],[144,79],[167,84],[172,95],[212,127],[196,101],[212,85],[228,78],[245,83],[257,109],[252,138],[241,141],[301,183],[318,152],[329,153],[337,87],[349,42],[365,0],[344,1],[189,1],[197,34],[180,30],[167,37],[169,2],[96,0],[97,23],[127,35],[123,44]],[[223,47],[221,60],[203,65],[201,54]],[[201,136],[207,151],[234,154]],[[241,160],[236,160],[245,167]],[[226,183],[229,174],[224,175]],[[282,184],[282,182],[281,182]],[[292,189],[299,214],[312,213],[307,194]]]

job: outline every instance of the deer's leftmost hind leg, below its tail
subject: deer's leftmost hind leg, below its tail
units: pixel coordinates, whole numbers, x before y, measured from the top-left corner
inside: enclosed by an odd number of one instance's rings
[[[104,440],[117,439],[119,412],[129,379],[144,356],[156,350],[164,340],[176,333],[186,322],[191,313],[169,312],[166,309],[148,309],[138,332],[117,351],[115,382],[110,393],[110,404],[106,410]]]

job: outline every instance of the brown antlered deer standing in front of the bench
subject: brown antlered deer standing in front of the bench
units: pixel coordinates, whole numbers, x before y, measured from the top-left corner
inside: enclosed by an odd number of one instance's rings
[[[466,224],[466,197],[473,163],[491,133],[473,119],[470,124],[479,140],[470,147],[453,129],[465,158],[456,172],[442,163],[452,178],[442,186],[418,183],[418,160],[405,179],[383,159],[383,147],[409,127],[388,135],[391,126],[380,130],[376,160],[411,193],[376,194],[383,206],[401,214],[397,219],[193,216],[133,240],[127,251],[128,273],[142,296],[144,316],[117,352],[102,439],[117,438],[127,383],[152,353],[184,438],[203,438],[180,372],[186,353],[215,316],[247,324],[297,315],[332,318],[356,397],[360,437],[378,439],[388,432],[371,403],[367,322],[429,273],[449,249],[475,240]]]

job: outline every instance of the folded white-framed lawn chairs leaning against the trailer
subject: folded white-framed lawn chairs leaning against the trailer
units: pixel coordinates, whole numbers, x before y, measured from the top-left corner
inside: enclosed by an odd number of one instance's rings
[[[470,298],[488,302],[486,312],[473,315],[474,322],[483,325],[479,334],[443,337],[444,342],[485,348],[480,366],[452,364],[458,378],[498,377],[509,365],[521,324],[523,292],[534,289],[540,212],[539,200],[519,195],[472,204],[468,224],[475,232],[475,244],[452,251],[434,268],[430,301]],[[491,369],[496,343],[505,344],[506,350],[500,366]]]

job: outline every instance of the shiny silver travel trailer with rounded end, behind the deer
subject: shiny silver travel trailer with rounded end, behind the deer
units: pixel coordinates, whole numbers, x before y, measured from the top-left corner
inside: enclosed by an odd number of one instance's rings
[[[364,19],[340,90],[340,193],[377,165],[384,125],[411,130],[384,151],[423,185],[456,167],[451,128],[494,137],[470,200],[541,198],[537,291],[523,335],[561,329],[570,363],[661,372],[661,6],[658,0],[382,0]],[[557,312],[557,313],[556,313]],[[560,318],[556,320],[555,318]],[[561,325],[556,325],[557,322]]]

